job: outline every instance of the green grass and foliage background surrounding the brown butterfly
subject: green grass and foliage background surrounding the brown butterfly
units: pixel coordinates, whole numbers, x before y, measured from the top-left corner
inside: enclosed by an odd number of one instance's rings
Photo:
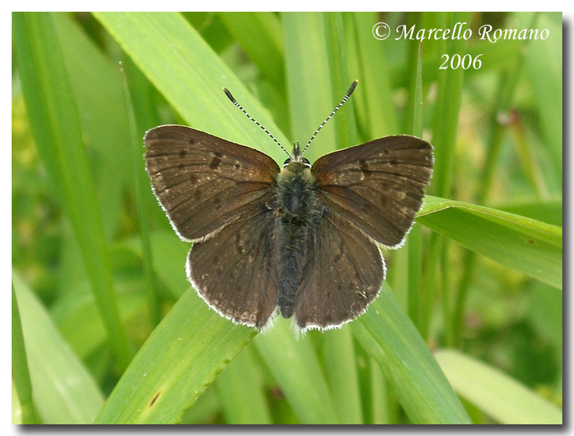
[[[378,41],[372,27],[465,40]],[[493,28],[548,39],[481,41]],[[562,422],[559,13],[14,13],[13,422]],[[480,69],[438,69],[443,54]],[[122,69],[118,67],[122,62]],[[314,160],[429,139],[435,172],[381,296],[295,338],[220,318],[185,280],[142,136],[181,123],[284,155],[352,80]]]

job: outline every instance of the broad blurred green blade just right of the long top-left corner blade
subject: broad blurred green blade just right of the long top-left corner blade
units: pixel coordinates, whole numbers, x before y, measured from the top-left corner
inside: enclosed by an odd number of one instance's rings
[[[129,133],[116,65],[112,65],[70,14],[52,14],[91,165],[106,240],[116,235],[129,182]],[[89,86],[86,86],[89,83]]]

